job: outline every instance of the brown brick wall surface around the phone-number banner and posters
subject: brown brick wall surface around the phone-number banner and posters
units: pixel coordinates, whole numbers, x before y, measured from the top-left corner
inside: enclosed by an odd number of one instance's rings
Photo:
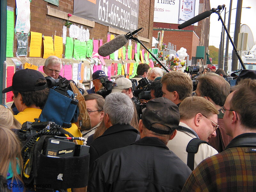
[[[44,34],[44,36],[54,36],[55,31],[57,36],[62,36],[62,28],[66,20],[47,15],[46,6],[51,8],[73,14],[74,0],[59,0],[59,6],[50,4],[43,0],[32,0],[30,3],[31,20],[30,20],[30,31]],[[7,0],[7,6],[16,9],[15,0]],[[143,10],[143,11],[140,11]],[[14,11],[15,12],[15,11]],[[16,15],[14,14],[14,26],[16,21]],[[139,36],[150,39],[150,43],[142,42],[147,47],[150,47],[152,42],[152,28],[154,17],[154,0],[145,0],[139,3],[139,21],[138,28],[143,27],[144,31]],[[79,23],[76,25],[81,26]],[[101,25],[95,22],[94,28],[82,25],[85,29],[88,28],[90,31],[90,39],[103,39],[103,43],[107,42],[108,26]],[[67,36],[69,33],[67,31]],[[28,46],[30,37],[28,37]],[[17,50],[17,40],[14,37],[14,56]],[[65,53],[65,45],[63,44],[63,54]],[[29,57],[29,52],[28,52]],[[41,57],[43,57],[43,43]]]

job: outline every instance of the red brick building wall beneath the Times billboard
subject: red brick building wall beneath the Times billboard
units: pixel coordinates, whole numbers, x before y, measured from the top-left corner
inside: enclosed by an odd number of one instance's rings
[[[157,38],[158,31],[153,30],[153,36]],[[163,43],[172,43],[176,45],[176,51],[180,50],[181,47],[187,49],[189,60],[196,56],[196,46],[199,45],[199,38],[193,31],[184,30],[164,30]]]

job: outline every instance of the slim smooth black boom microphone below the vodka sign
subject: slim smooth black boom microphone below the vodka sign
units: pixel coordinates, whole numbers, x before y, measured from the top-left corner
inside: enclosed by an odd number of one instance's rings
[[[224,9],[225,5],[219,5],[216,9],[212,8],[210,11],[205,11],[199,15],[196,15],[196,17],[191,18],[190,20],[185,21],[184,23],[180,24],[178,26],[179,29],[183,29],[185,27],[188,27],[189,25],[192,25],[198,21],[201,21],[205,19],[206,17],[209,17],[212,13]]]

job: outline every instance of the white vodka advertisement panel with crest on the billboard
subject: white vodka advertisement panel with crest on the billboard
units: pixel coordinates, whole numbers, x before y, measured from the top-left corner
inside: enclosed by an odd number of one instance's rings
[[[195,0],[181,0],[178,24],[195,17]]]

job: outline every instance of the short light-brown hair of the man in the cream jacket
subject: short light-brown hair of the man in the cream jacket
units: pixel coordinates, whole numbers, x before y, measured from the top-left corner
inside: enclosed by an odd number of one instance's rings
[[[215,106],[203,97],[187,97],[180,103],[179,111],[180,119],[191,119],[198,113],[206,117],[219,114]]]

